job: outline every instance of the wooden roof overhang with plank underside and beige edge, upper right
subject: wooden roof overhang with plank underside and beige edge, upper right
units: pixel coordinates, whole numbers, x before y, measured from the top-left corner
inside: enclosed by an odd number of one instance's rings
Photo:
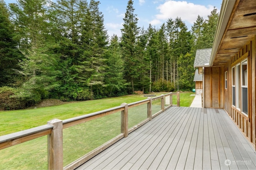
[[[255,0],[223,0],[210,66],[224,66],[256,35]]]

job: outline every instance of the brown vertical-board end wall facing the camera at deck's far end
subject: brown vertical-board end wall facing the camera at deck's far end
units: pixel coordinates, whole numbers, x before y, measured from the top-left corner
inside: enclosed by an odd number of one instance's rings
[[[204,107],[224,108],[224,67],[206,67],[204,75]]]

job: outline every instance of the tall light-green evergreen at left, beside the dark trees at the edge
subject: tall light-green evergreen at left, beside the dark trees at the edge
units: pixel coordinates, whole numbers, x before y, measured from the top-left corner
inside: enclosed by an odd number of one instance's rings
[[[18,4],[10,4],[14,21],[18,21],[20,33],[20,50],[25,59],[20,63],[25,76],[24,89],[33,94],[47,98],[50,90],[58,86],[55,69],[58,56],[49,51],[54,45],[49,36],[47,0],[18,0]],[[16,23],[17,24],[17,23]],[[24,42],[26,39],[26,42]]]

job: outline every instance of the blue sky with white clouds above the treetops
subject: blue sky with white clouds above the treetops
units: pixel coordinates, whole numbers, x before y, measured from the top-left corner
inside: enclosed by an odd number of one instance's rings
[[[52,0],[56,2],[56,0]],[[89,2],[90,0],[88,0]],[[104,15],[104,25],[108,35],[121,36],[124,14],[128,0],[99,0],[100,11]],[[16,0],[5,0],[6,4],[15,3]],[[222,0],[134,0],[134,13],[137,14],[138,26],[148,28],[149,23],[160,28],[169,18],[180,17],[188,29],[196,21],[198,15],[207,19],[216,6],[220,11]]]

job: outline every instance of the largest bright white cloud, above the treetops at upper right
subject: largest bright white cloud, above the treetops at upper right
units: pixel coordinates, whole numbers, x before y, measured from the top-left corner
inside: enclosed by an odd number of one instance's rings
[[[161,23],[169,18],[175,19],[180,17],[183,21],[193,24],[198,15],[206,19],[213,8],[214,6],[206,7],[203,5],[188,3],[186,1],[168,0],[156,8],[159,10],[159,14],[157,14],[155,19],[150,21],[150,23],[153,24],[157,21]]]

